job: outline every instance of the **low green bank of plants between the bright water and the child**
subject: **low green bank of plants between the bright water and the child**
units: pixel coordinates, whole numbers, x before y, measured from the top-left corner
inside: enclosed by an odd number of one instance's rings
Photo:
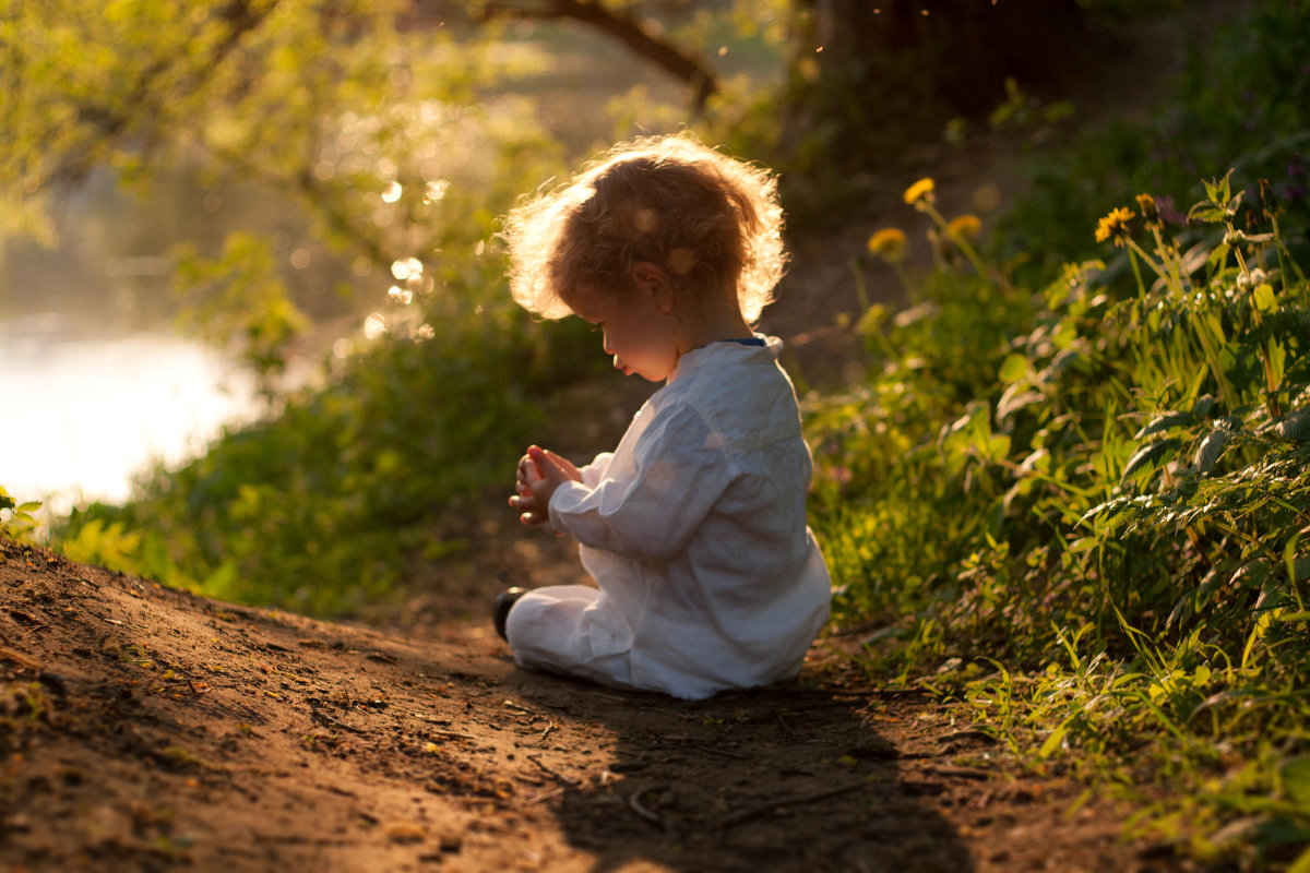
[[[487,258],[485,284],[448,284],[409,330],[279,415],[156,469],[127,505],[75,512],[64,550],[216,597],[341,614],[385,597],[410,561],[461,548],[449,520],[504,487],[540,397],[597,357],[580,356],[579,327],[514,308],[499,271]]]

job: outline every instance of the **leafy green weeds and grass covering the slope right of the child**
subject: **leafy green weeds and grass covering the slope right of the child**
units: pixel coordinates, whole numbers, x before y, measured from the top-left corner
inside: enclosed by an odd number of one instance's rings
[[[1310,711],[1310,283],[1275,199],[1205,190],[1199,243],[1142,196],[1102,220],[1108,264],[1036,296],[942,262],[808,416],[840,619],[882,626],[869,669],[972,700],[1035,766],[1119,779],[1150,737],[1159,777],[1242,774],[1203,823],[1275,791],[1269,737],[1294,750]]]

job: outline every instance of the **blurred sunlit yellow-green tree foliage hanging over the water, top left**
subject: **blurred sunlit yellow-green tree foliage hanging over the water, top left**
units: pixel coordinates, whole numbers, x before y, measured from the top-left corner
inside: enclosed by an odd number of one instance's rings
[[[531,103],[495,90],[534,60],[502,51],[494,26],[418,26],[398,0],[9,5],[0,234],[48,238],[51,199],[93,171],[144,190],[182,166],[299,203],[352,279],[417,259],[430,291],[562,166]],[[190,326],[274,372],[299,319],[258,245],[237,229],[225,255],[174,254],[178,284],[200,292]]]

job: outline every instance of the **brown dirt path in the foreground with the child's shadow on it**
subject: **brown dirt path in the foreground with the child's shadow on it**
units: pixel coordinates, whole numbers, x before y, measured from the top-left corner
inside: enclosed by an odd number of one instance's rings
[[[5,870],[1186,869],[832,645],[680,703],[3,556]]]

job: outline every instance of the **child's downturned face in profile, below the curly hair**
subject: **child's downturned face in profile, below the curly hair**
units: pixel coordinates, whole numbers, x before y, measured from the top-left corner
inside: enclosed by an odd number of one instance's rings
[[[680,322],[642,288],[626,294],[590,293],[567,301],[583,321],[601,330],[605,352],[624,376],[637,373],[663,382],[677,366],[683,351]]]

